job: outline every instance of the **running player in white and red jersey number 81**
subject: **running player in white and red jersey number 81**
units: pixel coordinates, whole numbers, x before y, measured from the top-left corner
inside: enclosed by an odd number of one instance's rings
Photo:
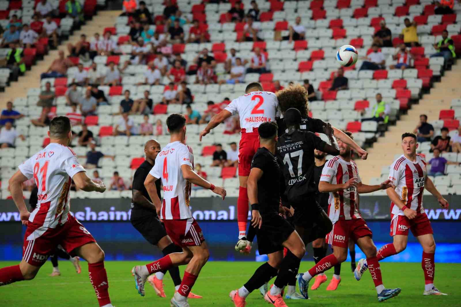
[[[17,266],[0,269],[0,286],[35,277],[40,267],[61,245],[68,254],[87,260],[90,282],[99,306],[112,307],[109,299],[104,252],[95,238],[70,213],[71,181],[78,189],[104,192],[104,183],[95,183],[67,147],[72,140],[69,118],[53,118],[48,132],[50,144],[19,165],[11,177],[10,191],[19,209],[21,221],[27,225],[24,236],[23,260]],[[38,188],[37,207],[32,213],[24,204],[22,183],[35,179]]]

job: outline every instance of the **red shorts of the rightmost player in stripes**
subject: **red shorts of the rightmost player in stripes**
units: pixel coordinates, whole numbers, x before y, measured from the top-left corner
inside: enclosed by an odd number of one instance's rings
[[[423,236],[433,234],[431,222],[426,213],[418,214],[416,218],[408,219],[405,215],[391,215],[390,236],[402,235],[408,236],[408,229],[413,236]]]

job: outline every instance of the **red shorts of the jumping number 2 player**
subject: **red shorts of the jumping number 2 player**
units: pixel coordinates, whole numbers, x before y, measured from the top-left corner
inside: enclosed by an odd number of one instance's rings
[[[260,148],[258,129],[254,128],[254,132],[245,132],[242,129],[242,137],[238,146],[238,176],[249,176],[251,168],[251,160]]]

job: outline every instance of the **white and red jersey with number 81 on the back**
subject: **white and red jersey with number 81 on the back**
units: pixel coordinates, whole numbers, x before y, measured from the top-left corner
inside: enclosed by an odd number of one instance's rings
[[[85,169],[71,148],[58,143],[50,143],[18,167],[25,177],[35,179],[38,188],[37,207],[29,217],[29,225],[36,229],[27,237],[34,240],[67,221],[72,177]]]

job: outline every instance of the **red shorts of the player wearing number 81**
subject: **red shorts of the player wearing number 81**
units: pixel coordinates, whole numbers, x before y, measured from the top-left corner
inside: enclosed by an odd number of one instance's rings
[[[33,224],[27,226],[23,246],[23,259],[32,266],[43,265],[58,245],[61,245],[70,254],[75,248],[96,242],[89,231],[70,214],[67,216],[67,222],[63,225],[48,228],[38,238],[28,241],[27,237],[35,230],[36,227]]]

